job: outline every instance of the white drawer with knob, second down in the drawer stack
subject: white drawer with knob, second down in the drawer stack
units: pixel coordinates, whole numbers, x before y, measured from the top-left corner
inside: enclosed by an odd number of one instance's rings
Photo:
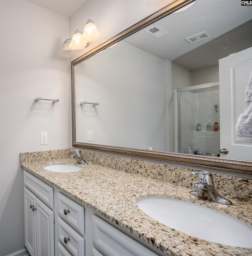
[[[58,238],[62,245],[69,250],[73,256],[85,255],[85,240],[73,228],[71,228],[64,220],[58,217]],[[69,239],[68,241],[64,241]]]

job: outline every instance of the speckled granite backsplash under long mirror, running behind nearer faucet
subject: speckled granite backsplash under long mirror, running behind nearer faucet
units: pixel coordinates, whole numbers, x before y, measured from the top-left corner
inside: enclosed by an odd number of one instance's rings
[[[145,177],[169,182],[174,185],[193,188],[198,182],[197,176],[192,175],[192,169],[170,166],[169,164],[157,164],[146,161],[139,161],[124,157],[104,155],[89,151],[82,151],[82,155],[87,163],[122,170]],[[243,179],[222,174],[213,174],[215,187],[222,196],[229,199],[235,198],[243,202],[252,203],[252,179]]]

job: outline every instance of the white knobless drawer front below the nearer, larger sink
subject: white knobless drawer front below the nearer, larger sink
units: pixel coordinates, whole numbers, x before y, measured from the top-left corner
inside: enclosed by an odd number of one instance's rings
[[[100,251],[93,250],[95,256],[158,256],[96,215],[93,215],[93,245]]]

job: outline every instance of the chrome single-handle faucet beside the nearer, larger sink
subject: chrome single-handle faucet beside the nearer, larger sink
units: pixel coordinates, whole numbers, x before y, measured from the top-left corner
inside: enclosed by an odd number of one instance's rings
[[[195,183],[195,190],[190,192],[191,195],[205,198],[207,200],[211,200],[213,202],[221,204],[232,205],[232,202],[230,200],[221,196],[215,189],[213,183],[213,174],[204,170],[193,171],[192,173],[194,175],[198,175],[200,182]]]

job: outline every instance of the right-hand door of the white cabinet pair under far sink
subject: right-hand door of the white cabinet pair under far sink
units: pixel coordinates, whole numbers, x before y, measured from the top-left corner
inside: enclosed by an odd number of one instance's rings
[[[36,198],[37,255],[54,256],[54,212]]]

